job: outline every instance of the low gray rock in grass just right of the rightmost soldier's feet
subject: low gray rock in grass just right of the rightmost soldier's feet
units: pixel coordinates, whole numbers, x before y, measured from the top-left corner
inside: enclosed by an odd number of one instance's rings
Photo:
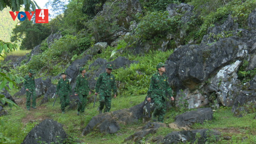
[[[174,122],[169,124],[173,129],[185,129],[190,130],[191,125],[195,123],[203,124],[204,120],[212,120],[213,111],[210,107],[200,108],[197,111],[185,112],[181,115],[177,115],[174,118]]]

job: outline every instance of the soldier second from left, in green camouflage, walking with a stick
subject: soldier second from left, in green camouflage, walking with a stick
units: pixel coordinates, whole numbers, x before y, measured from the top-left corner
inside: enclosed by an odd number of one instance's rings
[[[57,88],[56,88],[56,97],[57,95],[60,96],[61,102],[61,111],[62,114],[65,114],[65,107],[68,106],[69,103],[69,94],[72,96],[71,86],[69,80],[66,80],[67,73],[62,72],[61,77],[62,79],[59,80]]]

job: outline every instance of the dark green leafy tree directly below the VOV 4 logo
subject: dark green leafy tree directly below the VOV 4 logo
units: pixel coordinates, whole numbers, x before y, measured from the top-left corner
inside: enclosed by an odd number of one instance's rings
[[[20,49],[32,49],[51,34],[48,24],[35,24],[33,17],[30,21],[27,18],[20,21],[13,29],[11,42],[21,41]]]

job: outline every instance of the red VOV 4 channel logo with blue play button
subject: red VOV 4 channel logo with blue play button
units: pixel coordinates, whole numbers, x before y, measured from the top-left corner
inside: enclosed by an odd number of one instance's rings
[[[30,21],[35,13],[35,23],[48,23],[48,9],[37,9],[35,12],[31,11],[31,15],[29,12],[15,12],[16,15],[12,11],[9,13],[11,14],[13,20],[18,17],[20,21],[25,20],[26,17],[28,17],[28,20]]]

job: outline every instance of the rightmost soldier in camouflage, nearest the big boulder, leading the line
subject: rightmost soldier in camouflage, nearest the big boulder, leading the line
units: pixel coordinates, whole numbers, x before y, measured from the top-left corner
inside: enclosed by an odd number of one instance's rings
[[[163,123],[163,117],[166,113],[166,104],[165,101],[168,99],[167,96],[171,96],[171,100],[173,101],[174,98],[172,97],[171,88],[167,81],[167,76],[163,74],[165,72],[166,64],[159,62],[156,66],[158,72],[151,76],[150,87],[147,91],[147,101],[151,99],[154,100],[155,110],[152,114],[153,121],[156,121],[156,116],[159,115],[157,121]]]

